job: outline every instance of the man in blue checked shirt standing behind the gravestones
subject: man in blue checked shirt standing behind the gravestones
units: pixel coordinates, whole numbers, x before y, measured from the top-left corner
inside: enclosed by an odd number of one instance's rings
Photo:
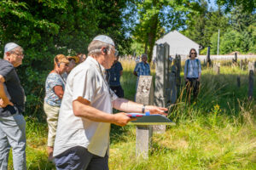
[[[137,83],[140,76],[149,76],[150,75],[150,65],[147,63],[148,55],[142,54],[142,62],[139,62],[133,71],[133,74],[137,77],[136,82],[136,92],[137,92]],[[135,94],[136,95],[136,94]]]

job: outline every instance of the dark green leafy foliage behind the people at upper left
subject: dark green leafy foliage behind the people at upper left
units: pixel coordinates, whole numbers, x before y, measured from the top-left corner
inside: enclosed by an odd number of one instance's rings
[[[98,34],[113,37],[120,54],[130,52],[122,11],[126,1],[0,1],[0,48],[17,42],[25,51],[18,68],[26,92],[26,114],[42,115],[44,82],[56,54],[87,53]],[[3,51],[0,51],[3,56]]]

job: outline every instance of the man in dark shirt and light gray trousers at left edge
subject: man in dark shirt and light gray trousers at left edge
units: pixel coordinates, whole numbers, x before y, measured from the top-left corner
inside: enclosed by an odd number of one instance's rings
[[[14,169],[26,169],[25,94],[15,67],[22,64],[23,49],[14,42],[4,47],[0,59],[0,169],[8,169],[12,147]]]

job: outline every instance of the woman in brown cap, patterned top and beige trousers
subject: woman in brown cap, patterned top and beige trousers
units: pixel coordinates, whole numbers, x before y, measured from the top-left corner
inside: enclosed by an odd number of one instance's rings
[[[47,116],[49,128],[47,152],[50,161],[53,160],[55,133],[61,106],[61,99],[63,98],[66,84],[66,79],[62,77],[62,74],[67,71],[69,61],[65,55],[58,54],[55,56],[54,63],[54,70],[50,71],[48,77],[46,78],[44,98],[44,112]]]

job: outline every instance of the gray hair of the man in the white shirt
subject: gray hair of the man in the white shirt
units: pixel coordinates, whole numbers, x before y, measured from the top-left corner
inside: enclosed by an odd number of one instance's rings
[[[106,47],[107,49],[112,48],[113,46],[110,45],[109,43],[102,42],[99,40],[94,40],[90,42],[88,46],[88,56],[89,55],[98,55],[102,53],[102,47]]]

